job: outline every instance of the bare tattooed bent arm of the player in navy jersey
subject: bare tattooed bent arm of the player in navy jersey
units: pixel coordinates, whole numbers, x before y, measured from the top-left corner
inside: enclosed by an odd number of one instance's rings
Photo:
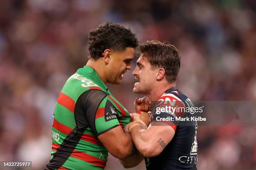
[[[158,125],[149,125],[148,129],[144,131],[140,125],[133,127],[130,131],[134,145],[145,157],[159,155],[175,133],[171,126],[161,122],[155,123]]]

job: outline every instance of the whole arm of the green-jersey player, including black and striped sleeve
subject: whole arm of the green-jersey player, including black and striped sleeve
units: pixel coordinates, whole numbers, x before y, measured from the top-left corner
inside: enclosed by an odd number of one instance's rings
[[[77,122],[84,122],[98,137],[108,152],[118,159],[130,156],[134,152],[131,135],[125,133],[118,122],[117,109],[107,93],[100,90],[88,90],[79,97],[78,104],[83,114],[77,115]],[[112,110],[111,110],[112,109]]]

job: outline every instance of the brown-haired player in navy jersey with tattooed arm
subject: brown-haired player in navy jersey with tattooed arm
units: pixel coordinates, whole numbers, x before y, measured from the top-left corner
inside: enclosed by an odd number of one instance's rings
[[[145,156],[147,170],[197,170],[197,122],[190,111],[194,106],[175,88],[179,51],[173,45],[148,41],[140,45],[139,52],[133,71],[138,82],[133,92],[145,94],[156,103],[148,128],[138,125],[143,122],[133,114],[134,122],[125,131],[131,133],[136,148]]]

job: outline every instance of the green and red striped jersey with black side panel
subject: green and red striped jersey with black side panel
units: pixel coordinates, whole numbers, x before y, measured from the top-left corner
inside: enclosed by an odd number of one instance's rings
[[[91,67],[69,77],[58,97],[52,125],[52,153],[46,170],[104,169],[108,150],[97,136],[131,120]]]

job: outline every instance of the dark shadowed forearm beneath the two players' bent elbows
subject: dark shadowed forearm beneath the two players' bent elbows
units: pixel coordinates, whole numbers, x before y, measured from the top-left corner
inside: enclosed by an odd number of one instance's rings
[[[144,156],[141,153],[139,153],[137,150],[133,155],[119,161],[124,168],[133,168],[138,164],[140,164],[143,159],[144,159]]]

